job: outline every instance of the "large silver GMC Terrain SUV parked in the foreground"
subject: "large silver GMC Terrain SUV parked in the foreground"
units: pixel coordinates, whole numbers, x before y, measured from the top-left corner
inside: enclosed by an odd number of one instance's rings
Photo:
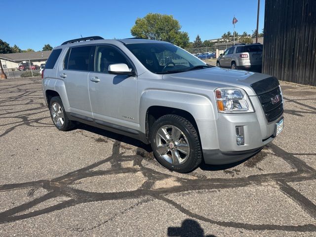
[[[139,139],[177,172],[252,156],[283,128],[276,78],[212,67],[163,41],[66,41],[42,85],[59,130],[79,121]]]

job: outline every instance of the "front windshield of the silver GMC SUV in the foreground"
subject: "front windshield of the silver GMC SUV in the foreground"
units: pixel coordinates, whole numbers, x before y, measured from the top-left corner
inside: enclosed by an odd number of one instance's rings
[[[151,72],[180,73],[210,67],[191,53],[171,43],[133,43],[126,47]]]

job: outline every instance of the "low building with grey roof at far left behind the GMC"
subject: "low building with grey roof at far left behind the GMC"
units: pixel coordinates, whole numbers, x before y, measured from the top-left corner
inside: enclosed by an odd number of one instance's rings
[[[33,65],[45,63],[52,51],[6,53],[0,54],[3,69],[16,69],[22,62],[31,62]]]

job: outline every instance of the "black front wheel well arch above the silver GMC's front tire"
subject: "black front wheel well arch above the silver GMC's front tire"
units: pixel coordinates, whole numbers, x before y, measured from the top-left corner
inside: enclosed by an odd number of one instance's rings
[[[152,127],[154,122],[158,118],[160,118],[164,115],[170,115],[170,114],[178,115],[178,116],[181,116],[183,118],[188,119],[193,124],[195,129],[197,130],[197,134],[199,136],[196,120],[189,112],[187,112],[185,110],[171,108],[171,107],[151,106],[148,108],[147,113],[146,113],[146,138],[147,138],[147,140],[149,140],[150,128]]]

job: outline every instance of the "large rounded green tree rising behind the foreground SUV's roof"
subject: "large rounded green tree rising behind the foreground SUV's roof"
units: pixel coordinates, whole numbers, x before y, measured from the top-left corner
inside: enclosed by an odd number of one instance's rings
[[[143,18],[137,18],[130,32],[137,38],[163,40],[185,47],[189,43],[189,36],[180,30],[179,21],[172,15],[149,13]]]

